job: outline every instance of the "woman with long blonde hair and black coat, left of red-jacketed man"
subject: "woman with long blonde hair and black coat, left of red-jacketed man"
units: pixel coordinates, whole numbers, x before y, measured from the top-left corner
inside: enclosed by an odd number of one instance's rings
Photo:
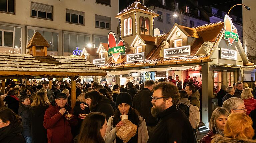
[[[43,91],[43,90],[41,90]],[[45,110],[49,107],[49,102],[45,92],[38,92],[31,104],[31,135],[35,143],[46,143],[47,132],[43,126]]]

